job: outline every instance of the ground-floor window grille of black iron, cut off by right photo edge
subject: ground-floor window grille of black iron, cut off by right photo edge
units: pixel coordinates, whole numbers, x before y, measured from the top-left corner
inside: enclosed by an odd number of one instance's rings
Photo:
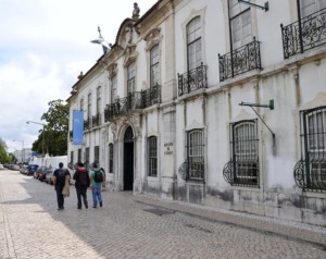
[[[326,107],[300,112],[301,159],[293,176],[303,190],[326,190]]]

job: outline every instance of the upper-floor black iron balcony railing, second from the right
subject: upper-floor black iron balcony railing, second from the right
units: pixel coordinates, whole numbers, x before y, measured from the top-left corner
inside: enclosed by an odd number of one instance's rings
[[[255,40],[224,55],[218,54],[220,81],[235,77],[252,70],[262,70],[260,41]]]

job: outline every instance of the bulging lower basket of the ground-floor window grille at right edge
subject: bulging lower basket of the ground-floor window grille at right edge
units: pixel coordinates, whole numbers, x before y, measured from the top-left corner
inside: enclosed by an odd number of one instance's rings
[[[303,190],[326,192],[326,158],[298,161],[293,176],[296,184]]]

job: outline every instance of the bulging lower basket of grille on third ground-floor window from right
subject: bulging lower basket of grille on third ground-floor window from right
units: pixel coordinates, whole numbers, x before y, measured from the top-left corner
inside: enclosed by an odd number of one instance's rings
[[[179,176],[185,181],[204,182],[204,162],[185,161],[178,170]]]

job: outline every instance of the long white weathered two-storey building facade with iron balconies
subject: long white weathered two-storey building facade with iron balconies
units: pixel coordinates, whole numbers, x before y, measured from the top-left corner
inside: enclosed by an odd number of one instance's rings
[[[325,224],[326,0],[159,0],[73,86],[114,190]]]

